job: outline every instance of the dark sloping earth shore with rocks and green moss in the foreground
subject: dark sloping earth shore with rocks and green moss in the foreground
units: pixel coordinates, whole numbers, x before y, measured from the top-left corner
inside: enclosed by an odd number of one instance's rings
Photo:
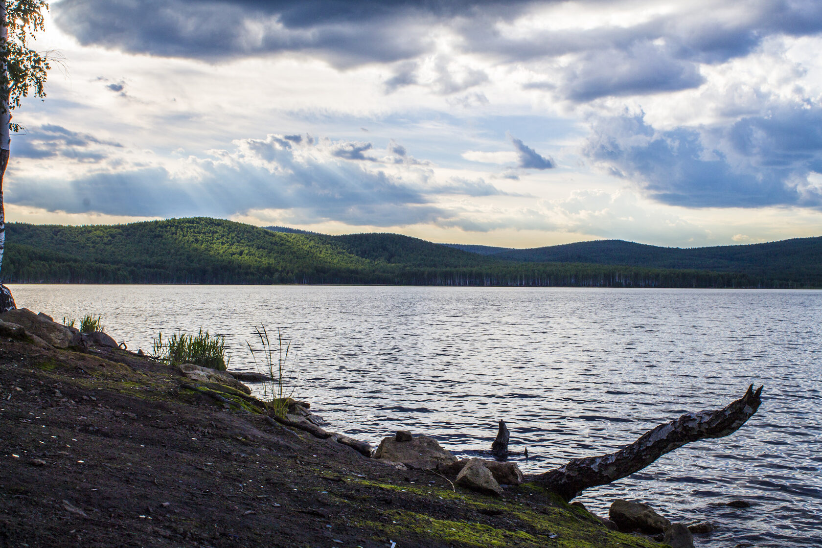
[[[662,546],[515,465],[409,432],[367,457],[306,404],[275,421],[242,385],[16,314],[0,317],[0,546]]]

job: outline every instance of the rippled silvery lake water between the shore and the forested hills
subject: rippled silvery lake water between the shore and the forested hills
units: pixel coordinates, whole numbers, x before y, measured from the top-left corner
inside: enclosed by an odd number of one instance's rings
[[[102,315],[134,351],[150,352],[159,331],[224,334],[236,370],[255,369],[254,328],[279,327],[292,341],[294,396],[332,430],[377,444],[406,429],[481,455],[505,419],[511,459],[526,473],[610,453],[764,384],[759,412],[737,433],[688,444],[578,500],[600,515],[629,498],[672,521],[714,523],[696,546],[822,546],[822,292],[11,288],[18,306],[58,321]]]

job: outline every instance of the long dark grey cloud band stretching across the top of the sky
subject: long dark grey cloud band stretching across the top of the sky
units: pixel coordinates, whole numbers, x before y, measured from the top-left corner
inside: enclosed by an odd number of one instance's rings
[[[497,0],[63,0],[53,6],[60,28],[81,44],[167,57],[225,60],[300,52],[337,67],[393,63],[386,93],[418,84],[417,60],[436,52],[432,27],[446,25],[466,53],[503,62],[576,56],[530,89],[559,90],[577,102],[650,94],[701,84],[700,63],[725,62],[771,35],[822,31],[822,2],[717,2],[717,9],[653,16],[634,25],[504,34],[501,22],[552,2]],[[559,2],[557,2],[559,3]],[[579,2],[591,10],[607,3]],[[553,65],[556,67],[556,65]],[[487,81],[478,69],[455,76],[435,67],[432,90],[454,94]]]

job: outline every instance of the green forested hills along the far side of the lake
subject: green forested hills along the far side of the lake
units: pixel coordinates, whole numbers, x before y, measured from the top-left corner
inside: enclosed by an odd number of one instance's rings
[[[489,255],[398,234],[289,233],[223,219],[9,223],[2,274],[5,283],[820,288],[820,246],[822,238],[696,250],[606,241]]]

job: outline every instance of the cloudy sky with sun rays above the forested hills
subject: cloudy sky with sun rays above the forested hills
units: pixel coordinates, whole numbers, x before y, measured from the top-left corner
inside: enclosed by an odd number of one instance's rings
[[[7,221],[822,235],[817,0],[59,0]]]

